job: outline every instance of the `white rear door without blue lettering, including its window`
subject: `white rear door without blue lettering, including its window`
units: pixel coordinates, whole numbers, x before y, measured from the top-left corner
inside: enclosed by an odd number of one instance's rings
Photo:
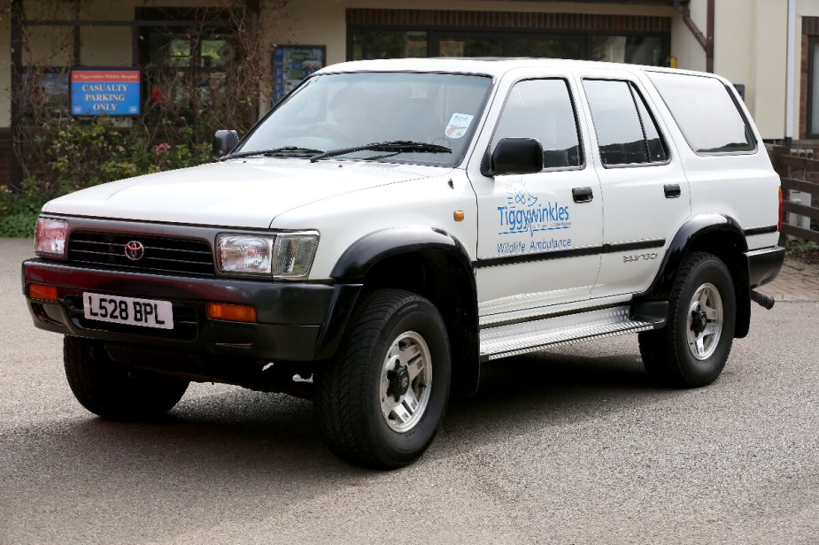
[[[606,206],[600,273],[591,297],[645,290],[677,228],[690,216],[688,182],[666,128],[630,73],[581,80]]]

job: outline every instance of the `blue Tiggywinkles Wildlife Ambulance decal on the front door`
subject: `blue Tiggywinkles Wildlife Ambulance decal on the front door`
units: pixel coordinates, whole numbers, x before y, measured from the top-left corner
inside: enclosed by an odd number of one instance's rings
[[[571,248],[570,237],[545,236],[546,232],[560,232],[572,226],[568,205],[557,201],[542,201],[529,193],[526,182],[512,180],[506,183],[506,205],[498,206],[498,234],[522,235],[514,241],[498,242],[498,254],[518,254]],[[510,237],[511,238],[511,237]]]

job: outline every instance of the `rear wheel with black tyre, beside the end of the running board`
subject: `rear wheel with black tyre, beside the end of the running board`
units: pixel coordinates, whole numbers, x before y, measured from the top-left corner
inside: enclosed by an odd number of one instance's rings
[[[707,323],[694,301],[698,292],[698,300],[708,302],[706,310],[715,318],[707,319]],[[728,268],[712,254],[693,252],[684,258],[676,273],[669,303],[666,326],[639,334],[645,369],[655,379],[676,388],[711,384],[728,360],[737,319],[736,295]],[[716,306],[722,311],[720,319],[716,319]],[[717,331],[718,334],[708,333]],[[699,349],[696,342],[690,347],[690,342],[698,338],[702,342]]]

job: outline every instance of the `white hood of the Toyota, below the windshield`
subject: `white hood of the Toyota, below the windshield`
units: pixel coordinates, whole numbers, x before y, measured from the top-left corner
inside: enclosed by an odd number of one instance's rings
[[[450,168],[364,161],[259,158],[113,181],[61,196],[42,211],[91,218],[267,228],[285,211]]]

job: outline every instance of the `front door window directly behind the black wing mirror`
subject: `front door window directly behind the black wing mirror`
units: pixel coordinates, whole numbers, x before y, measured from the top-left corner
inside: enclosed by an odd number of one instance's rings
[[[566,81],[526,80],[506,99],[492,144],[503,138],[534,138],[543,146],[544,168],[580,166],[577,119]]]

